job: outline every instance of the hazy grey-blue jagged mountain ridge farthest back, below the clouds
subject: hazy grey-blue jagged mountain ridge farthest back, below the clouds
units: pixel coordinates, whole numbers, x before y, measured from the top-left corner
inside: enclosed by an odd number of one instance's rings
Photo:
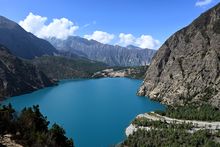
[[[128,49],[71,36],[66,40],[50,38],[48,41],[58,50],[69,51],[91,60],[104,62],[111,66],[140,66],[151,62],[155,50]]]

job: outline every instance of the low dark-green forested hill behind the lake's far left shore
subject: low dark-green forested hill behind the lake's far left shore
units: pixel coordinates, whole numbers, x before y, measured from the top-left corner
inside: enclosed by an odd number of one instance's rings
[[[42,56],[30,61],[53,79],[89,78],[95,72],[106,69],[107,65],[85,58]]]

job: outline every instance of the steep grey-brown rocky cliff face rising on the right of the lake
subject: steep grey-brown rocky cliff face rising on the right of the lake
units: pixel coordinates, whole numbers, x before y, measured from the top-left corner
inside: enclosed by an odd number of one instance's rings
[[[220,4],[162,45],[138,94],[170,105],[203,101],[220,106]]]

